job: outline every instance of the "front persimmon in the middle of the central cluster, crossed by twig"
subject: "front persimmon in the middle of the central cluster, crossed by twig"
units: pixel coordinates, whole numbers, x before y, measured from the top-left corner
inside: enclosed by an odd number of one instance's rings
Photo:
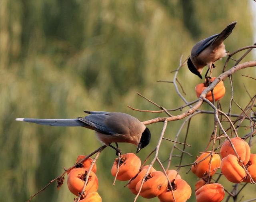
[[[140,190],[141,184],[142,180],[136,184],[137,192]],[[151,172],[146,176],[145,182],[140,191],[140,196],[143,198],[154,198],[166,190],[167,184],[168,181],[164,173],[161,171]]]

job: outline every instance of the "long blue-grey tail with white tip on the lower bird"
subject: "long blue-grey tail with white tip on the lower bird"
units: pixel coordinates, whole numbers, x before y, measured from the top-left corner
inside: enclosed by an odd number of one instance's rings
[[[27,119],[17,118],[16,121],[25,121],[30,123],[37,123],[41,125],[50,126],[86,126],[85,123],[79,121],[79,119]]]

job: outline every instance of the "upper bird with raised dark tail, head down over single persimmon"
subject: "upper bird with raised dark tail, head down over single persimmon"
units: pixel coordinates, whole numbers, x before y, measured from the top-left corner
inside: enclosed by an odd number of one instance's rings
[[[209,71],[215,67],[216,60],[228,55],[223,41],[231,34],[235,26],[236,22],[232,22],[220,34],[212,35],[194,45],[188,58],[188,69],[202,79],[201,73],[206,65]]]

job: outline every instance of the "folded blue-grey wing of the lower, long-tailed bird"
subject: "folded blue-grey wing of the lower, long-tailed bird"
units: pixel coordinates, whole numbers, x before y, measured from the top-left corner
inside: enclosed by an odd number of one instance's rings
[[[109,127],[106,126],[107,118],[108,118],[108,115],[104,113],[94,113],[84,118],[78,117],[80,121],[82,121],[83,123],[86,123],[89,126],[89,128],[93,129],[94,131],[98,131],[106,135],[116,134]]]

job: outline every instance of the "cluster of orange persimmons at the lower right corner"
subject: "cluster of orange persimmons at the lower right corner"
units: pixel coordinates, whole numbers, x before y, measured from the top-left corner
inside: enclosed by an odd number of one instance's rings
[[[195,188],[197,202],[221,202],[223,200],[225,196],[223,186],[219,183],[207,184],[218,168],[227,180],[233,183],[251,182],[250,176],[252,180],[256,180],[256,154],[250,153],[250,147],[243,139],[235,137],[230,141],[226,140],[220,149],[222,160],[216,153],[213,153],[211,157],[211,152],[205,152],[192,165],[192,172],[201,178]]]

